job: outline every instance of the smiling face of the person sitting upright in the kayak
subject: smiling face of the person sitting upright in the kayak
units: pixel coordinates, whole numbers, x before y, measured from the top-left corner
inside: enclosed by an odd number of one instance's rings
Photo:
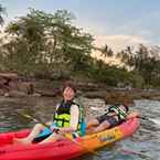
[[[75,96],[75,92],[71,87],[65,87],[63,92],[64,100],[72,100]]]

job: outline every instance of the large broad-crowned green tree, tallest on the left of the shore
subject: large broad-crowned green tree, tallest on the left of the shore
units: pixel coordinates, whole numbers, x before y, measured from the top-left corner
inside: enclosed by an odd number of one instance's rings
[[[6,32],[12,39],[3,45],[6,66],[28,74],[86,68],[93,38],[74,26],[73,18],[66,10],[51,14],[30,9],[25,17],[11,22]]]

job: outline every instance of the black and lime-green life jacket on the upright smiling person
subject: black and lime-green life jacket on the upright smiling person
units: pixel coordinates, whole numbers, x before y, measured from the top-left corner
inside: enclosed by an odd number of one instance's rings
[[[57,127],[70,127],[71,124],[71,107],[72,105],[77,105],[79,108],[79,119],[78,119],[78,125],[77,125],[77,131],[81,135],[82,129],[81,129],[81,124],[82,124],[82,113],[83,109],[81,105],[76,100],[71,100],[64,103],[64,100],[57,106],[54,115],[53,115],[53,121],[56,124]]]

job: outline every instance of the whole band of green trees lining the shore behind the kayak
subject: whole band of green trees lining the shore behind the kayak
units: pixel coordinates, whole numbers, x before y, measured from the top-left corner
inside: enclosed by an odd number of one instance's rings
[[[0,6],[0,22],[2,11]],[[66,10],[45,13],[30,9],[26,15],[9,23],[8,40],[0,45],[0,71],[50,78],[83,74],[111,86],[159,86],[160,47],[128,46],[116,54],[122,67],[106,64],[92,57],[92,52],[99,51],[105,58],[115,56],[114,51],[107,44],[94,46],[93,36],[75,26],[74,20],[74,14]]]

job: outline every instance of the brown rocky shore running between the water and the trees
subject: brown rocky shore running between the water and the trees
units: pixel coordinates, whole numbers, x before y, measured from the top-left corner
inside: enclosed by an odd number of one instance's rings
[[[62,94],[63,81],[34,81],[34,83],[18,76],[15,73],[0,73],[0,96],[23,97],[36,95],[55,97]],[[87,81],[73,81],[79,96],[87,98],[102,98],[106,103],[122,102],[126,99],[160,100],[160,90],[151,89],[119,89],[107,87],[105,84],[96,84]],[[111,94],[111,97],[110,97]]]

